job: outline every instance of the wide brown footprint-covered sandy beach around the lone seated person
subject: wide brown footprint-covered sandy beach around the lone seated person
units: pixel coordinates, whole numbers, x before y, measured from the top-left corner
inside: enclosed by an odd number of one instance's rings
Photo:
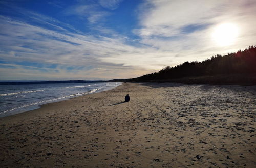
[[[124,83],[0,118],[0,167],[256,167],[255,93],[216,89]]]

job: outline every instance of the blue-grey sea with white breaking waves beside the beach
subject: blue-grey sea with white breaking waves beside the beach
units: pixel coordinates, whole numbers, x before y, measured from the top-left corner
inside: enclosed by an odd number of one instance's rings
[[[39,108],[39,105],[111,90],[120,82],[0,85],[0,117]]]

